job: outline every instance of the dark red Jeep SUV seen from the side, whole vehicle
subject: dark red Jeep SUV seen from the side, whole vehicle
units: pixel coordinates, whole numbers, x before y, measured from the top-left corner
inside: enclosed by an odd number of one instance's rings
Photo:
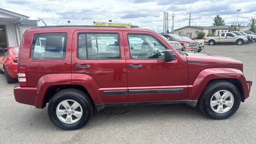
[[[84,126],[92,108],[199,105],[212,119],[232,116],[252,82],[233,58],[179,52],[152,30],[42,26],[24,32],[17,102],[44,108],[64,130]]]

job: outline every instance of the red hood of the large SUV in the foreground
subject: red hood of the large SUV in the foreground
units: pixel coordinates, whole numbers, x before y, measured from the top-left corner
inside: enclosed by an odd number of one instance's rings
[[[234,58],[228,58],[224,56],[217,56],[213,54],[201,54],[194,52],[185,52],[188,62],[200,62],[202,64],[232,64],[232,65],[243,65],[239,60]]]

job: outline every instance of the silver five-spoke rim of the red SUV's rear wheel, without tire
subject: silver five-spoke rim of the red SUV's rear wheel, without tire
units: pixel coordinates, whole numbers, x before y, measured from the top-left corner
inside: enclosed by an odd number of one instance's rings
[[[58,119],[66,124],[74,124],[82,118],[82,106],[75,100],[63,100],[56,108]]]

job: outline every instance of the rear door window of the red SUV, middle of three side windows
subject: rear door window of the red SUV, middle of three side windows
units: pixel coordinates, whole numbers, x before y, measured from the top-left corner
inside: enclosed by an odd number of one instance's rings
[[[78,59],[120,59],[118,34],[78,34]]]

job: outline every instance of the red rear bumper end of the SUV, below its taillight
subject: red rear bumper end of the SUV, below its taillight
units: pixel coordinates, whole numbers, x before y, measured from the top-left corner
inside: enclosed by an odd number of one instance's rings
[[[15,86],[13,89],[16,102],[35,105],[37,88]]]

